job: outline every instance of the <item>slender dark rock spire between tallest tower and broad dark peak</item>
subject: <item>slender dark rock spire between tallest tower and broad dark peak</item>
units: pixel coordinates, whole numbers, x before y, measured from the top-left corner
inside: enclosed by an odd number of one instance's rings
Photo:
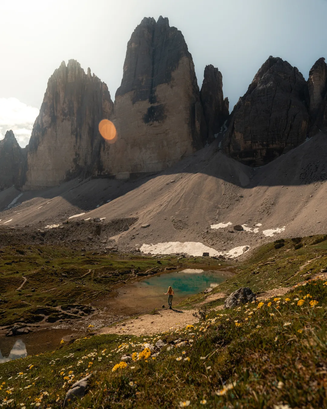
[[[213,65],[204,69],[204,79],[200,91],[204,118],[208,129],[208,142],[212,142],[228,119],[229,101],[222,91],[222,73]]]

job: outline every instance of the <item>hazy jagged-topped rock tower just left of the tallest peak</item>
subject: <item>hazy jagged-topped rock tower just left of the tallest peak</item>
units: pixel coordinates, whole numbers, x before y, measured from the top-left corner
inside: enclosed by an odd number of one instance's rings
[[[50,77],[27,153],[25,189],[55,186],[99,169],[98,125],[113,108],[108,87],[75,60]]]

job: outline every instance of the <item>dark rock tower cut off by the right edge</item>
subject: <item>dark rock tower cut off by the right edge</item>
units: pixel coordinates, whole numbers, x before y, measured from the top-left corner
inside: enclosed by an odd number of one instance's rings
[[[310,135],[327,128],[327,64],[319,58],[309,72]]]

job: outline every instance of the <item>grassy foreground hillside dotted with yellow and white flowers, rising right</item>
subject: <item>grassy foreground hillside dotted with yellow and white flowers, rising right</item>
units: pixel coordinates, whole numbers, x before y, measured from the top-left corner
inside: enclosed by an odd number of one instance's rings
[[[92,374],[85,397],[69,407],[326,407],[327,281],[314,278],[326,265],[327,243],[318,239],[301,240],[307,244],[299,249],[292,240],[264,246],[215,288],[229,293],[244,283],[267,291],[289,283],[282,297],[233,310],[208,304],[195,326],[151,337],[85,337],[1,364],[0,405],[62,407],[69,385]],[[158,339],[166,346],[153,356],[144,344]],[[134,360],[125,365],[124,354]]]

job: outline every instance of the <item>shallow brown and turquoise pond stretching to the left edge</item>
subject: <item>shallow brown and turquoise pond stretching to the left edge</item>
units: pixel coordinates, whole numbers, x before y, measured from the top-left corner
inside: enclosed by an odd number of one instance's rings
[[[146,277],[141,281],[128,283],[119,288],[117,297],[108,298],[97,303],[102,311],[77,322],[59,323],[53,328],[43,329],[18,337],[4,337],[0,335],[0,363],[25,357],[27,355],[53,351],[60,345],[60,340],[68,341],[78,338],[89,330],[91,324],[94,329],[107,326],[126,316],[150,312],[154,308],[168,307],[167,292],[171,285],[175,295],[172,307],[190,295],[198,294],[206,288],[214,288],[230,277],[233,269],[221,270],[182,270],[164,272]]]

